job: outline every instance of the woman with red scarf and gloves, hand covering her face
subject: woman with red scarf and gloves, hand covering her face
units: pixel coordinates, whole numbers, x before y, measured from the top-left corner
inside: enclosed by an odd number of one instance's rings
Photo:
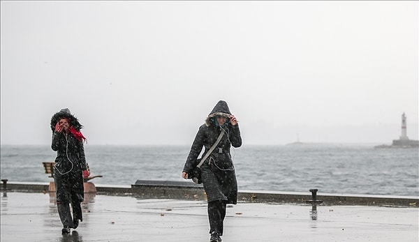
[[[53,151],[57,151],[54,181],[57,190],[58,214],[63,224],[62,234],[70,233],[82,221],[84,199],[83,178],[87,170],[83,142],[86,137],[80,132],[82,125],[68,108],[61,109],[51,119]],[[73,209],[71,215],[70,204]]]

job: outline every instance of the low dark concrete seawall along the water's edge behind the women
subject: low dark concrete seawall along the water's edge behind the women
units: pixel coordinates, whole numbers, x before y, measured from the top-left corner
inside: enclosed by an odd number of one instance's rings
[[[13,182],[3,183],[1,190],[8,192],[49,192],[49,183]],[[131,196],[153,199],[186,199],[205,200],[202,185],[191,181],[149,181],[138,180],[131,186],[96,185],[96,194]],[[316,204],[357,205],[357,206],[406,206],[419,207],[419,197],[391,195],[347,195],[328,194],[319,191],[316,194]],[[321,201],[321,202],[319,202]],[[309,192],[279,192],[260,190],[239,190],[238,202],[254,203],[285,203],[307,204],[313,202],[313,194]]]

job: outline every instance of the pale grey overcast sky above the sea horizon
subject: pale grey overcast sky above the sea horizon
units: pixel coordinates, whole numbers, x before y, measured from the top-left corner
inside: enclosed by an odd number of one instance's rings
[[[191,144],[218,100],[244,144],[418,139],[418,1],[1,1],[1,144]]]

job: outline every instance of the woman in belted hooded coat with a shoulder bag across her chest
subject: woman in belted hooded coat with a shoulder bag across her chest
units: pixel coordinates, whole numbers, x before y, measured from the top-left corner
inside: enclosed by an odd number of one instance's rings
[[[230,113],[225,101],[220,100],[207,116],[205,123],[200,126],[182,172],[184,179],[190,178],[189,173],[196,167],[196,160],[203,147],[207,153],[221,132],[221,141],[200,167],[207,194],[210,241],[214,242],[221,241],[220,236],[223,235],[226,204],[237,204],[237,180],[230,147],[237,148],[242,145],[237,119]]]

